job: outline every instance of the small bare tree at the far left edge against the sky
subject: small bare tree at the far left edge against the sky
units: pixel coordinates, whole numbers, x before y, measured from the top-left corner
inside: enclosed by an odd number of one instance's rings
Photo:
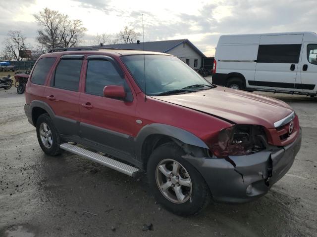
[[[7,60],[22,60],[20,50],[26,49],[26,38],[21,31],[9,31],[7,37],[4,39],[3,57]]]

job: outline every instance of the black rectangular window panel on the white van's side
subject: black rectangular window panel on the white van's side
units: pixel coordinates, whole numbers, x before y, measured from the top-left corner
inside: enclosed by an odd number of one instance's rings
[[[301,44],[259,45],[258,63],[298,63]]]

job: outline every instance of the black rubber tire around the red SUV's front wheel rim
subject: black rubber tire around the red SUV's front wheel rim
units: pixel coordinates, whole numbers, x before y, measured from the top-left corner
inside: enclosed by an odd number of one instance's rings
[[[167,210],[181,216],[194,215],[201,212],[209,203],[211,193],[202,175],[182,156],[184,151],[175,143],[165,143],[156,148],[147,164],[147,176],[152,192],[157,201]],[[192,180],[192,195],[184,203],[173,203],[162,195],[156,182],[156,168],[163,159],[171,158],[179,162],[187,170]]]

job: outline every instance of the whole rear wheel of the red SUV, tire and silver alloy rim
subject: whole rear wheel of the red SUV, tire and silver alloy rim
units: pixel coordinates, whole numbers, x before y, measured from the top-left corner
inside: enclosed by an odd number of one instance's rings
[[[36,134],[42,151],[49,156],[61,153],[60,137],[52,118],[48,114],[40,115],[36,122]]]

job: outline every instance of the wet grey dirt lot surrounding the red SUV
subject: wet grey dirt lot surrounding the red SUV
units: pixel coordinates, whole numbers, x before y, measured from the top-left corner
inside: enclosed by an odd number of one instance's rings
[[[317,237],[317,98],[261,94],[286,101],[300,118],[302,148],[292,168],[254,202],[211,203],[184,218],[155,202],[145,177],[67,152],[44,155],[24,94],[0,89],[0,237]],[[143,231],[150,223],[153,231]]]

